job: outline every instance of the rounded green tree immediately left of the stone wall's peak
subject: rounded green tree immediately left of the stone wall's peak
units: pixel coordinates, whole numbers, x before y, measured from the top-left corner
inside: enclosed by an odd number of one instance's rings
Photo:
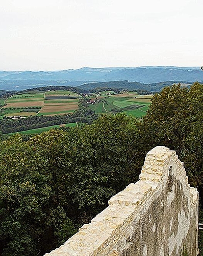
[[[102,116],[92,125],[86,126],[84,132],[94,151],[92,166],[108,177],[108,187],[117,193],[131,179],[137,180],[137,173],[133,176],[131,173],[137,150],[136,118],[125,114]]]

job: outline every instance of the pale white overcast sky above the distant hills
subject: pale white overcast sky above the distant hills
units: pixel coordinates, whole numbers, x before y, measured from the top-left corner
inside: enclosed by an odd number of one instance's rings
[[[2,0],[0,70],[203,65],[202,0]]]

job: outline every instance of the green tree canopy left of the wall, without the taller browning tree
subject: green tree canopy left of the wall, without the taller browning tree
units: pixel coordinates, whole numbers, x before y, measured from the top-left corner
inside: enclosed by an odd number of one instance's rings
[[[103,116],[83,129],[2,141],[0,253],[43,255],[104,209],[132,180],[136,124]]]

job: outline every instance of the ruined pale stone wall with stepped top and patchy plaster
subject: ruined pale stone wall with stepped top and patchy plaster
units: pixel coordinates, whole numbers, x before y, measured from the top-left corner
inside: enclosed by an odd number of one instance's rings
[[[157,146],[146,155],[137,183],[64,245],[45,255],[197,255],[198,193],[174,151]]]

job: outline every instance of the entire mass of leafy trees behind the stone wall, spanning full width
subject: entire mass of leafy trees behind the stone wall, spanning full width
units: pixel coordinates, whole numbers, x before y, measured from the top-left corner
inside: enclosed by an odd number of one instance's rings
[[[43,255],[136,182],[154,146],[175,150],[202,196],[203,86],[167,87],[140,122],[124,114],[0,144],[0,253]],[[200,204],[200,207],[202,205]],[[200,245],[202,244],[200,240]]]

